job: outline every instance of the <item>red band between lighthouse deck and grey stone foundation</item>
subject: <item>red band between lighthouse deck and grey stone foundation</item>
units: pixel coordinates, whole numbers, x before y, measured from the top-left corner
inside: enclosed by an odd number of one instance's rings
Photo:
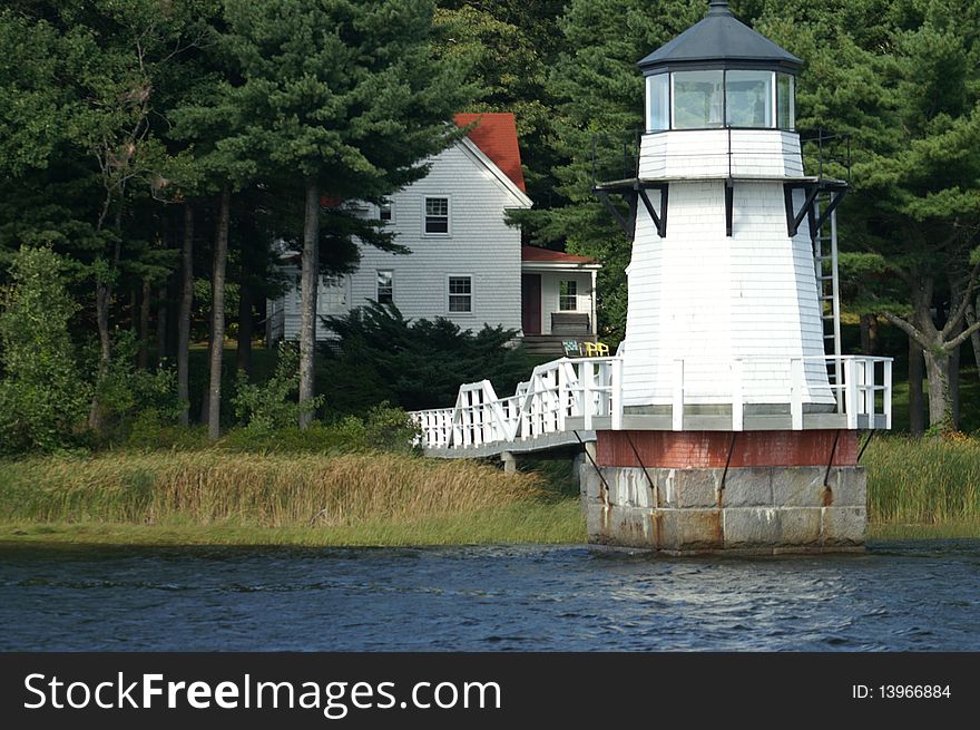
[[[638,467],[641,460],[643,466],[650,468],[724,468],[732,436],[726,431],[598,431],[596,463]],[[734,436],[735,447],[728,463],[732,468],[826,466],[832,451],[834,466],[857,464],[856,431],[738,431]]]

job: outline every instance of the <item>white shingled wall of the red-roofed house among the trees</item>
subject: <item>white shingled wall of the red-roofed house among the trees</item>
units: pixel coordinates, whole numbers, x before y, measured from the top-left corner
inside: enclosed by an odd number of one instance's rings
[[[508,208],[528,207],[529,201],[502,183],[468,140],[431,162],[425,177],[390,197],[395,242],[411,253],[360,246],[361,263],[346,278],[343,296],[339,290],[329,291],[327,301],[318,306],[321,314],[342,314],[378,299],[378,271],[390,271],[394,303],[405,318],[443,317],[464,330],[484,324],[520,330],[521,236],[519,228],[504,223],[504,216]],[[427,196],[449,198],[449,235],[423,233]],[[367,207],[369,215],[376,215],[376,208]],[[451,275],[471,276],[470,313],[449,311]],[[321,299],[324,293],[321,289]],[[285,337],[293,339],[300,327],[296,288],[285,294],[283,309]],[[324,328],[317,328],[317,339],[326,335]]]

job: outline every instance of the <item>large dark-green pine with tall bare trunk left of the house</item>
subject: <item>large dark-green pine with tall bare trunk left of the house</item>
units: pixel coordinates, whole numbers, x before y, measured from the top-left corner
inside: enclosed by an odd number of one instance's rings
[[[303,188],[301,403],[315,395],[322,198],[378,199],[421,177],[471,95],[455,64],[433,58],[433,11],[427,0],[227,3],[243,80],[232,98],[249,120],[236,144]]]

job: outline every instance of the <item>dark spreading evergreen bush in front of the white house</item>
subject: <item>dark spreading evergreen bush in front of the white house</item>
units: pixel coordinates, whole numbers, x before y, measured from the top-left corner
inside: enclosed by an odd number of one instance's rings
[[[462,331],[443,318],[406,320],[392,305],[371,304],[324,323],[340,337],[327,349],[321,380],[332,385],[327,406],[364,412],[382,401],[405,410],[449,407],[460,383],[483,380],[500,395],[513,392],[529,372],[516,330]]]

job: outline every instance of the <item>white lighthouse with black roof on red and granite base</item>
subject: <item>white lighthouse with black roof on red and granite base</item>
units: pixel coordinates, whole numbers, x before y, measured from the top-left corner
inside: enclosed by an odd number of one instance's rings
[[[595,187],[633,247],[619,402],[581,469],[590,539],[861,549],[859,436],[891,425],[891,361],[841,351],[847,185],[804,169],[803,61],[716,0],[638,66],[635,174]]]

